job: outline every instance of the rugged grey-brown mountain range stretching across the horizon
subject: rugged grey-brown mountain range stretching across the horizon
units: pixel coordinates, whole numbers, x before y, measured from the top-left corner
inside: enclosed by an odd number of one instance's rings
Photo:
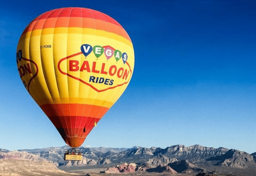
[[[26,158],[30,161],[49,161],[59,168],[68,166],[109,165],[134,163],[132,168],[145,172],[223,173],[252,175],[256,173],[256,152],[248,154],[228,148],[200,145],[186,147],[173,145],[167,148],[103,148],[80,147],[82,161],[65,161],[68,146],[9,151],[0,149],[0,159]],[[116,172],[116,171],[115,171]]]

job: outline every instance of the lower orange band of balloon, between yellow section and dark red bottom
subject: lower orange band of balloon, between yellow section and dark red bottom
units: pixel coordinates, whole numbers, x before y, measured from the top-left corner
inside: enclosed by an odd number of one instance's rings
[[[40,108],[46,116],[89,116],[101,118],[109,108],[88,104],[44,104]]]

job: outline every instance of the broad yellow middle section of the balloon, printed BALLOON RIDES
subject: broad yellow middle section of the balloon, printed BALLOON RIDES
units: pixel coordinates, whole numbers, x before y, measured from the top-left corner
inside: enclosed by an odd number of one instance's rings
[[[67,38],[68,42],[63,42],[63,38]],[[68,40],[68,38],[72,38],[72,40]],[[133,49],[120,41],[102,36],[83,34],[57,34],[54,36],[53,34],[45,34],[32,36],[30,40],[24,39],[20,41],[20,43],[22,42],[24,42],[24,46],[33,46],[29,54],[38,67],[38,74],[33,78],[33,82],[37,85],[39,84],[43,89],[43,92],[41,92],[42,90],[37,92],[38,98],[34,98],[35,100],[42,99],[42,97],[51,99],[66,97],[96,99],[100,94],[99,100],[115,103],[118,98],[115,96],[104,97],[105,91],[108,92],[107,94],[116,95],[117,92],[121,94],[120,90],[123,90],[128,85],[132,76],[134,67],[134,61],[131,62],[134,54]],[[81,52],[82,44],[91,45],[89,47],[110,46],[120,52],[125,51],[129,56],[129,60],[124,64],[121,55],[119,56],[121,60],[119,59],[118,61],[116,61],[114,55],[107,59],[104,52],[99,58],[96,58],[93,51],[85,57]],[[42,46],[43,48],[41,48]],[[18,47],[22,48],[21,45]],[[108,52],[113,52],[113,49]],[[72,56],[74,54],[77,55]],[[24,60],[24,62],[29,64],[28,61]],[[19,65],[22,64],[24,65],[22,61],[19,62]],[[36,69],[34,69],[35,71]],[[28,82],[32,76],[33,74],[26,74],[27,79],[25,82]],[[30,86],[33,89],[37,87],[35,85]],[[103,97],[104,99],[102,99]]]

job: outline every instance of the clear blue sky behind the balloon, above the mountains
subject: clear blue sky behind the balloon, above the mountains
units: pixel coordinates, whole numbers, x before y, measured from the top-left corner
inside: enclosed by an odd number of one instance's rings
[[[256,151],[255,1],[28,0],[1,7],[0,148],[66,145],[21,83],[15,53],[22,31],[41,13],[85,7],[126,29],[135,68],[84,146]]]

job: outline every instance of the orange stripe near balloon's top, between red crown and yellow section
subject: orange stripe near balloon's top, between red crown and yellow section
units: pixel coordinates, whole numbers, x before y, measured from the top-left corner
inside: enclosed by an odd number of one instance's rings
[[[34,26],[34,24],[36,25]],[[33,26],[34,28],[32,28]],[[92,28],[97,30],[104,30],[107,32],[111,32],[117,34],[119,36],[123,36],[124,38],[131,41],[128,34],[125,30],[113,23],[91,19],[91,18],[79,18],[79,17],[56,17],[56,18],[47,18],[47,19],[40,19],[37,21],[33,21],[30,25],[23,31],[23,35],[32,30],[37,29],[45,29],[45,28],[59,28],[59,27],[76,27],[76,28]]]

